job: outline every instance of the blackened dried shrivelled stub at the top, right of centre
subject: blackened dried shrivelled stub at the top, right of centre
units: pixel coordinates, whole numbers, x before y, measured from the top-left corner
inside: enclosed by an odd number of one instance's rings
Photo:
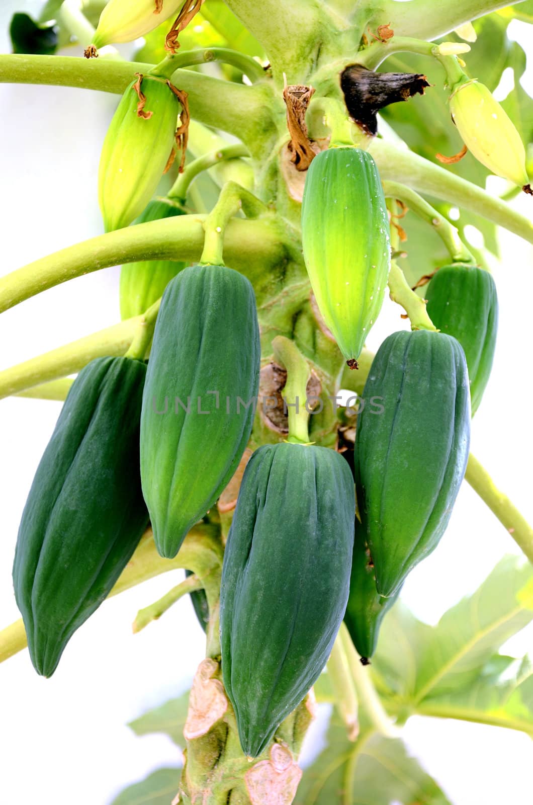
[[[391,103],[424,95],[430,86],[426,76],[410,72],[374,72],[361,64],[349,64],[341,72],[341,89],[350,118],[367,134],[378,133],[379,110]]]

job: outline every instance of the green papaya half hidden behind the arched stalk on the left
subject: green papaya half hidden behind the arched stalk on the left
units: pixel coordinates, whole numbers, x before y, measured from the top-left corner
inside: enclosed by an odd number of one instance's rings
[[[184,215],[184,209],[171,199],[159,198],[148,204],[135,224],[160,221]],[[185,267],[179,260],[143,260],[125,263],[120,270],[120,315],[122,319],[141,316],[163,296],[172,277]]]

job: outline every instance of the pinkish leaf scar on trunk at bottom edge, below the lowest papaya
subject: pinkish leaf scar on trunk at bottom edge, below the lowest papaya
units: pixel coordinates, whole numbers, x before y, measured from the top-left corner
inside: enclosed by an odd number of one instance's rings
[[[291,805],[301,777],[290,749],[272,745],[269,760],[255,763],[244,774],[250,805]]]

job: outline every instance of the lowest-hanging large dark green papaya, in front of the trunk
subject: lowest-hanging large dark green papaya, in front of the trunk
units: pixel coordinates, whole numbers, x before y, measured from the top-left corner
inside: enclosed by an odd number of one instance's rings
[[[222,674],[249,757],[328,660],[348,599],[354,516],[339,453],[266,444],[250,458],[221,583]]]

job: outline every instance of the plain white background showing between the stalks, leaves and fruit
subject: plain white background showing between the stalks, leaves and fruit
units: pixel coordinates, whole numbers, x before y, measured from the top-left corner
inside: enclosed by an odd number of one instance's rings
[[[22,2],[8,2],[7,8],[2,3],[2,52],[9,47],[5,30],[10,13],[22,7]],[[533,47],[527,45],[531,29],[514,25],[512,30],[533,64]],[[531,92],[529,72],[525,81]],[[0,86],[0,274],[101,233],[97,164],[116,102],[114,96],[86,90]],[[525,197],[513,202],[530,216],[531,204]],[[504,259],[494,266],[500,299],[498,349],[473,424],[472,450],[533,519],[533,247],[508,233],[501,234],[501,243]],[[118,268],[110,268],[75,279],[4,313],[0,369],[118,321],[118,274]],[[377,349],[389,332],[405,326],[399,312],[386,299],[370,334],[370,348]],[[0,626],[19,617],[11,583],[14,543],[31,479],[59,411],[60,403],[46,401],[10,398],[0,403]],[[519,551],[465,484],[445,538],[411,574],[403,599],[418,617],[436,622],[481,583],[505,552]],[[188,600],[142,633],[131,634],[137,610],[182,575],[161,576],[105,602],[74,635],[52,679],[35,674],[27,651],[0,666],[0,801],[105,805],[126,784],[159,766],[176,765],[178,753],[170,739],[134,737],[126,722],[184,691],[203,656],[203,634]],[[532,639],[533,630],[525,630],[506,649],[523,654],[531,650]],[[533,749],[522,733],[413,718],[405,737],[454,805],[531,798]],[[312,757],[319,746],[320,725],[309,738],[305,757]]]

